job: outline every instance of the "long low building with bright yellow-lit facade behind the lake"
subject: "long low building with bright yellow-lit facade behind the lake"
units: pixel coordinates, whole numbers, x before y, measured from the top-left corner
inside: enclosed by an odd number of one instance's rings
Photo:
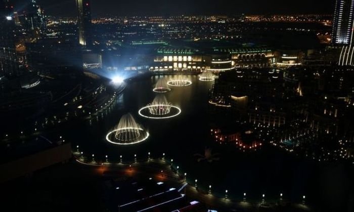
[[[235,68],[270,67],[275,54],[265,48],[172,49],[159,48],[151,71],[223,72]]]

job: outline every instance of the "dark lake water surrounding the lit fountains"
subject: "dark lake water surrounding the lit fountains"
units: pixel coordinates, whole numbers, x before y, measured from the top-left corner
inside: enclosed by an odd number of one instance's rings
[[[213,193],[242,199],[260,200],[264,193],[266,199],[276,200],[283,193],[284,199],[300,202],[306,195],[306,201],[336,211],[338,205],[347,208],[353,198],[352,168],[340,164],[317,164],[297,157],[271,146],[264,145],[256,152],[240,152],[231,146],[211,142],[210,117],[208,113],[208,91],[213,82],[199,81],[197,76],[186,76],[193,81],[189,87],[175,87],[165,96],[169,102],[182,109],[178,117],[166,120],[152,120],[140,117],[138,110],[152,102],[156,93],[152,92],[158,77],[129,81],[117,105],[103,117],[98,117],[66,127],[64,136],[80,146],[86,155],[95,154],[96,158],[109,156],[111,161],[153,157],[173,158],[173,165],[180,166],[180,172],[187,172],[188,181],[207,190],[212,185]],[[106,142],[105,136],[125,113],[131,113],[136,121],[150,133],[144,143],[133,146],[116,146]],[[219,153],[217,161],[197,162],[194,154],[204,154],[204,148],[210,147],[212,153]],[[352,195],[352,196],[351,196]],[[324,211],[324,210],[322,210]],[[328,211],[331,211],[329,209]]]

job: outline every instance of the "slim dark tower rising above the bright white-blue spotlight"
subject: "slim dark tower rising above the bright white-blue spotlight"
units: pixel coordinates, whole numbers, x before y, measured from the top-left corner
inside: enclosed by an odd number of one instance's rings
[[[83,47],[92,46],[91,38],[91,3],[90,0],[76,0],[78,15],[79,43]]]

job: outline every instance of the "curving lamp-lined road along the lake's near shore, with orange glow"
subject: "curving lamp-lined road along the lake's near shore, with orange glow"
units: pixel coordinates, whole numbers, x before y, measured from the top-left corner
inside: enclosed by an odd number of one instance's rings
[[[170,164],[163,159],[150,159],[150,161],[137,161],[131,164],[126,164],[83,162],[82,159],[80,160],[76,158],[76,162],[82,165],[95,167],[101,175],[121,175],[124,177],[134,177],[138,180],[153,178],[156,181],[168,182],[179,188],[185,183],[184,176],[176,174],[176,172],[172,170]],[[211,194],[208,194],[208,191],[196,189],[194,184],[188,184],[183,192],[190,199],[198,200],[210,208],[217,208],[222,211],[227,211],[231,208],[236,209],[235,211],[245,212],[262,211],[259,209],[260,202],[237,201],[230,198],[219,198],[214,196],[212,192]],[[291,209],[292,211],[311,211],[309,207],[302,204],[291,204]]]

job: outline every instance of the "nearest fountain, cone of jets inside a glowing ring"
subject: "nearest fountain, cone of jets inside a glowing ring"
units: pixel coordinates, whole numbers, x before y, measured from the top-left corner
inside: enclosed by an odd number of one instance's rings
[[[149,133],[142,128],[130,113],[123,115],[118,125],[110,131],[106,140],[117,145],[131,145],[145,141]]]

